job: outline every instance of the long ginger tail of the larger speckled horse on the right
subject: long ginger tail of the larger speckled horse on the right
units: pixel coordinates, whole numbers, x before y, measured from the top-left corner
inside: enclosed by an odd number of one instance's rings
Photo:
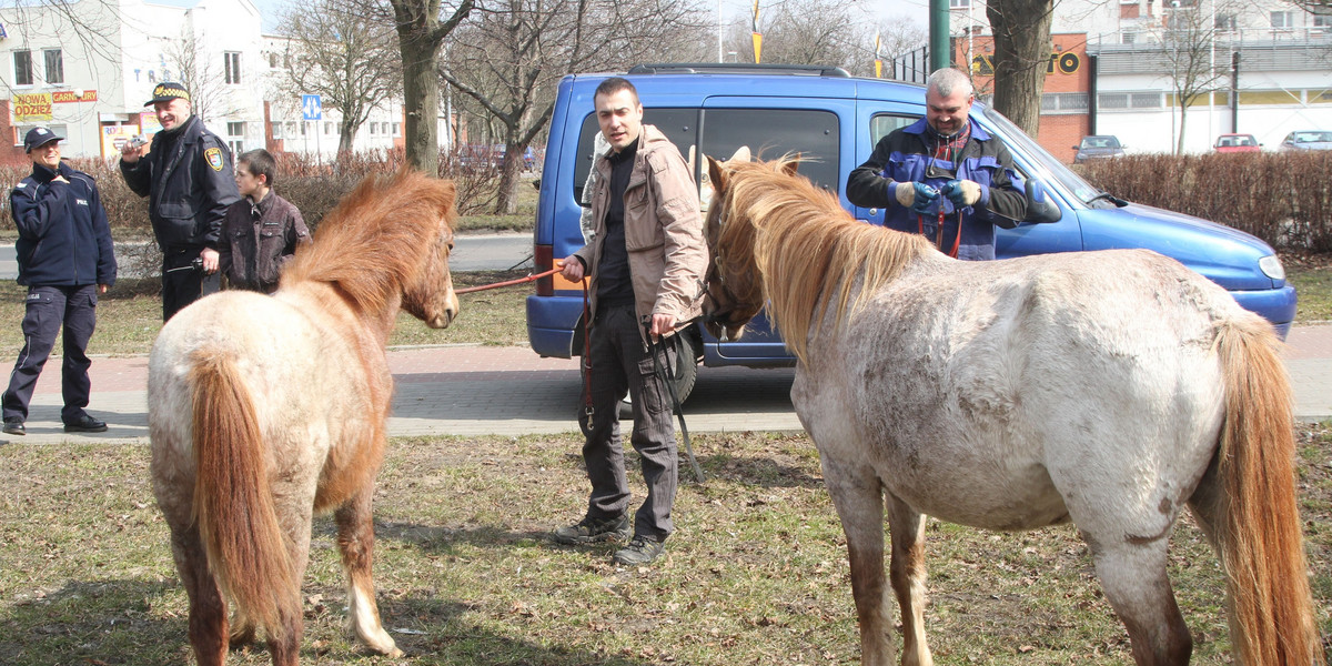
[[[1217,452],[1217,551],[1231,642],[1245,666],[1320,665],[1321,639],[1295,497],[1291,384],[1271,326],[1227,321],[1215,341],[1225,388]]]

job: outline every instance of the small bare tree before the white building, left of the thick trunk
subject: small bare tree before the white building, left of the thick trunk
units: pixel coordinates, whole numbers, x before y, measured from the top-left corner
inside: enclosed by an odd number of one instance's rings
[[[370,111],[402,85],[393,29],[361,9],[349,0],[290,5],[278,28],[289,37],[278,92],[290,99],[318,95],[342,115],[338,155],[353,149]]]

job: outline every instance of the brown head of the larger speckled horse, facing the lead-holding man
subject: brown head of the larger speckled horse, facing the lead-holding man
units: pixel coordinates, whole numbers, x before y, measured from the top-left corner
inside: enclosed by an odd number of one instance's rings
[[[755,221],[747,205],[734,196],[739,174],[761,170],[795,172],[795,160],[770,163],[750,161],[746,147],[729,160],[707,157],[707,177],[713,197],[707,206],[707,293],[703,298],[703,321],[718,340],[739,340],[745,325],[763,309],[763,276],[754,257]]]

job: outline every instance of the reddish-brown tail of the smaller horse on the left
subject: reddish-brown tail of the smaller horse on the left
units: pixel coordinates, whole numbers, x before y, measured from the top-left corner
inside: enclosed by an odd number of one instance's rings
[[[221,353],[196,353],[194,519],[208,566],[244,629],[260,625],[280,639],[301,617],[292,566],[269,488],[254,401],[236,365]]]

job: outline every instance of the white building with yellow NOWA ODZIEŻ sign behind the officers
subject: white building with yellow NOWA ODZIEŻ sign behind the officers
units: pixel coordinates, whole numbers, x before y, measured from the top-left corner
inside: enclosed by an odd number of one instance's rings
[[[0,8],[0,159],[23,161],[23,136],[48,125],[67,157],[113,159],[125,140],[160,129],[144,101],[160,81],[184,81],[193,111],[236,153],[268,148],[313,159],[337,152],[341,116],[318,120],[282,95],[286,40],[264,35],[250,0],[188,7],[144,0]],[[354,148],[402,145],[402,104],[372,111]],[[3,140],[3,139],[0,139]]]

